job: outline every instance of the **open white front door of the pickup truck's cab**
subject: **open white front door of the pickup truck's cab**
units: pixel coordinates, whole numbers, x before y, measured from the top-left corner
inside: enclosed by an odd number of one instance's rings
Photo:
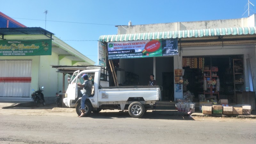
[[[70,101],[75,100],[77,97],[77,77],[80,70],[74,72],[71,77],[71,82],[68,85],[67,95],[68,95],[68,106],[70,107]]]

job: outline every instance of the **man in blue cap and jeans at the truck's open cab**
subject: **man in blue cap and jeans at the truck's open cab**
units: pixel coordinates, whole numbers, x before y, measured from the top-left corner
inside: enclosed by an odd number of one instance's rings
[[[84,87],[83,89],[83,96],[81,99],[81,115],[79,117],[82,117],[85,115],[84,111],[85,111],[85,100],[91,95],[92,93],[92,81],[90,79],[88,79],[88,75],[87,74],[83,74],[82,76],[84,78],[84,83],[83,84],[77,84],[80,87]],[[82,90],[81,90],[82,92]]]

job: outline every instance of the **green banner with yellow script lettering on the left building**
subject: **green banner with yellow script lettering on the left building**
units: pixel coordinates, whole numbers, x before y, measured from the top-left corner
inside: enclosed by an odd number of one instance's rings
[[[52,55],[52,40],[0,40],[0,56]]]

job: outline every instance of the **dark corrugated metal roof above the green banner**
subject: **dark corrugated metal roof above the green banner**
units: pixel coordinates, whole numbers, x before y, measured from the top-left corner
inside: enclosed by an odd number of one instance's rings
[[[44,28],[0,28],[0,35],[54,35]]]

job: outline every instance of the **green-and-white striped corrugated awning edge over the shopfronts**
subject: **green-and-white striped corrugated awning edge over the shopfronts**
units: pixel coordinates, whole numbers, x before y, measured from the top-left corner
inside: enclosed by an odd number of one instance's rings
[[[237,28],[212,28],[196,30],[163,31],[153,33],[136,33],[123,35],[103,35],[100,36],[100,42],[119,42],[148,39],[168,39],[168,38],[203,38],[217,36],[243,36],[255,35],[256,27],[237,27]]]

